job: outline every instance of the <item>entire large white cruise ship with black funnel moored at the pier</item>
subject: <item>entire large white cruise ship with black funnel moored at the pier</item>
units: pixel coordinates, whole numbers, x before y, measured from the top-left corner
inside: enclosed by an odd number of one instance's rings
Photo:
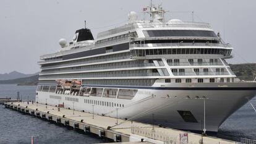
[[[75,32],[56,53],[40,57],[36,102],[127,121],[218,132],[254,98],[226,59],[233,47],[208,23],[164,19],[161,6],[129,12],[127,23],[98,33]],[[111,125],[110,125],[111,126]]]

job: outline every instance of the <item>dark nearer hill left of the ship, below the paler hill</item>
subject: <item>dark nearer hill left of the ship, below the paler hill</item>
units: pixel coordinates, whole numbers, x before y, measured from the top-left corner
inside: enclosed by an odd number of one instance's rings
[[[37,85],[38,75],[30,77],[16,78],[13,80],[0,80],[0,84],[17,84],[17,85]]]

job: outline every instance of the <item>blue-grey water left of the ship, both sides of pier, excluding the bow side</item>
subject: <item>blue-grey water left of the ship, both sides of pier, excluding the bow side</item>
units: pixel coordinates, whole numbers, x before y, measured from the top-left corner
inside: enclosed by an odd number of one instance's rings
[[[35,101],[35,86],[0,85],[0,96],[11,96],[17,98],[20,91],[22,100]],[[22,96],[21,96],[22,95]],[[5,109],[0,105],[0,143],[106,143],[108,140],[100,139],[95,135],[85,135],[68,130],[36,117],[21,114],[11,109]]]

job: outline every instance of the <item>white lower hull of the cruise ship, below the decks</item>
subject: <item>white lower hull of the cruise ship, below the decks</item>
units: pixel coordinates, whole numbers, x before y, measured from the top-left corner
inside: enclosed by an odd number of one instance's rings
[[[174,129],[202,130],[203,101],[205,98],[205,128],[207,131],[218,132],[218,127],[233,112],[241,108],[241,106],[256,95],[254,83],[230,83],[228,85],[208,88],[199,87],[198,84],[200,83],[194,85],[196,88],[152,87],[151,89],[138,89],[137,94],[132,100],[62,95],[42,91],[37,91],[37,100],[38,103],[46,103],[47,99],[47,103],[53,106],[64,103],[64,107],[70,109],[73,109],[74,104],[75,110],[105,114],[111,117],[116,117],[116,109],[118,108],[119,118],[148,122],[150,124],[152,123],[152,114],[154,114],[155,124],[161,124]],[[218,85],[218,83],[214,85]],[[53,99],[53,96],[58,96],[62,99]],[[65,97],[78,98],[79,100],[66,101]],[[109,102],[109,106],[101,106],[97,102],[96,104],[88,104],[85,103],[85,100],[106,101]],[[112,103],[121,105],[117,107],[111,105]],[[124,107],[120,107],[122,104],[124,104]],[[94,111],[92,105],[94,106]],[[186,120],[182,118],[178,111],[189,111],[194,116],[194,119],[189,117]]]

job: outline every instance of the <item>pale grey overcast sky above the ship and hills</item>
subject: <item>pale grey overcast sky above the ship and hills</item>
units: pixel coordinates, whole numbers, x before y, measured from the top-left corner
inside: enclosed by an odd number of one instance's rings
[[[256,1],[254,0],[154,0],[162,4],[166,20],[207,22],[234,47],[229,63],[256,62]],[[123,25],[129,11],[143,19],[142,8],[149,0],[1,0],[0,74],[13,70],[32,74],[40,71],[43,54],[61,47],[59,39],[72,40],[75,30],[87,27],[98,32]]]

